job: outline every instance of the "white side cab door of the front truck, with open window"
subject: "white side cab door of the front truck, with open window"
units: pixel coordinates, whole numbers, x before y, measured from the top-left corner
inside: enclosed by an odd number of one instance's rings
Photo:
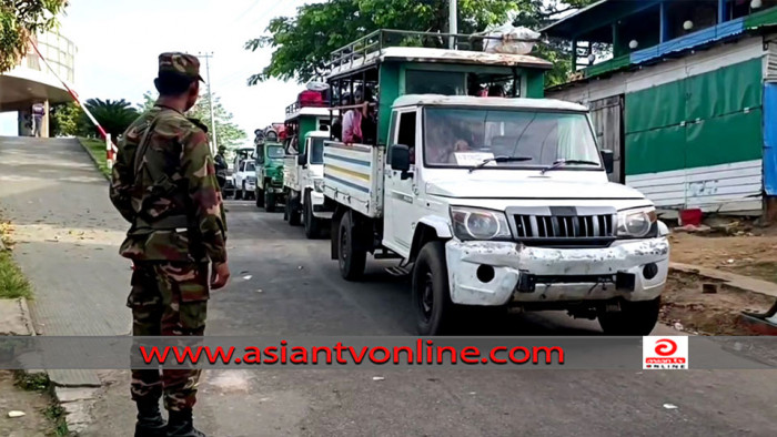
[[[410,148],[411,156],[415,156],[421,145],[421,115],[417,109],[394,111],[391,132],[389,135],[389,162],[385,171],[384,193],[384,242],[383,244],[402,256],[410,255],[413,243],[413,232],[420,214],[417,199],[417,167],[411,165],[411,171],[403,179],[402,172],[391,167],[391,148],[404,144]]]

